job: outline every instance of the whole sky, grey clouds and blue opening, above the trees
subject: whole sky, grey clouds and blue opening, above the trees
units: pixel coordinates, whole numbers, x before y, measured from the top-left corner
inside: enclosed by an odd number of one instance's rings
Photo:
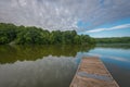
[[[130,37],[130,0],[0,0],[0,23]]]

